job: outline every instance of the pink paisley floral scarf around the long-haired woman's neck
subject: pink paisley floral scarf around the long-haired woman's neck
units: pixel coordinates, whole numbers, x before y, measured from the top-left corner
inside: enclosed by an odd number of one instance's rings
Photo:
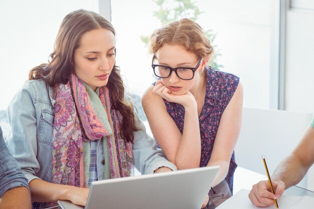
[[[115,109],[111,109],[107,87],[100,87],[99,99],[107,113],[112,131],[107,130],[95,114],[85,86],[76,75],[72,74],[67,84],[55,87],[53,183],[87,187],[82,144],[83,141],[102,137],[108,137],[111,178],[131,175],[132,143],[125,142],[120,137],[121,115]]]

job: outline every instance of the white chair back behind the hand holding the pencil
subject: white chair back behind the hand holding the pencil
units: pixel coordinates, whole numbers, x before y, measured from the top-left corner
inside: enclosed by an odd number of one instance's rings
[[[261,154],[269,173],[296,147],[312,113],[243,108],[242,128],[235,147],[236,163],[266,175]],[[298,185],[306,187],[304,178]]]

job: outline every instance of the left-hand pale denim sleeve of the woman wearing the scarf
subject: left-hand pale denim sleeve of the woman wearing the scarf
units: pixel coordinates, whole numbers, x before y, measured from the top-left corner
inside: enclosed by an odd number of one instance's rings
[[[7,145],[30,182],[40,170],[36,158],[38,152],[37,120],[34,106],[35,89],[27,83],[10,102],[7,113],[11,130]]]

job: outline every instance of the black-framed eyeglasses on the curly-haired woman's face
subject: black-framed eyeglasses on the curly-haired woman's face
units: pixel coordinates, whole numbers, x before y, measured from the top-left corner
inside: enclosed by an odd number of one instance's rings
[[[175,71],[176,75],[182,80],[191,80],[194,78],[195,71],[200,67],[203,58],[200,59],[195,68],[189,67],[178,67],[172,68],[167,65],[156,65],[153,64],[155,57],[152,58],[151,67],[155,76],[159,78],[168,78],[173,71]]]

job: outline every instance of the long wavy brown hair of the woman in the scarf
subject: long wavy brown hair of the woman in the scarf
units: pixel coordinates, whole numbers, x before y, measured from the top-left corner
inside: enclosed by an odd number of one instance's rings
[[[49,62],[33,68],[29,80],[43,79],[49,86],[68,83],[74,73],[74,52],[80,46],[83,34],[95,29],[107,29],[116,36],[111,23],[99,14],[86,10],[69,13],[62,21]],[[134,131],[140,130],[135,124],[133,106],[124,100],[124,85],[120,69],[113,66],[107,87],[110,92],[112,108],[122,116],[120,135],[127,142],[133,142]]]

